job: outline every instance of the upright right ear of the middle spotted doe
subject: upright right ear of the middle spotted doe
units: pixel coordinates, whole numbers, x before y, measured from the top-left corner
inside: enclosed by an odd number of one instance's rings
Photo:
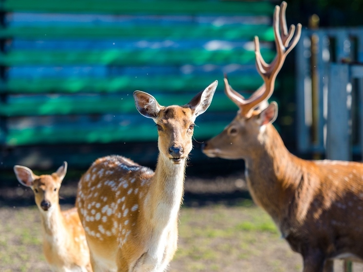
[[[201,91],[188,103],[188,106],[193,110],[194,116],[202,114],[212,103],[213,94],[217,89],[218,81],[214,81],[211,85]]]

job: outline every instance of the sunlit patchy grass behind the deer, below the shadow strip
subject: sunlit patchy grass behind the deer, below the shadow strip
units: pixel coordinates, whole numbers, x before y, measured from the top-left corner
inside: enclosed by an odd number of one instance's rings
[[[0,218],[5,222],[0,224],[1,272],[49,271],[42,252],[38,213],[36,206],[0,208]],[[272,262],[276,253],[285,259]],[[301,257],[279,239],[271,218],[251,200],[233,207],[182,207],[178,251],[170,272],[299,270]]]

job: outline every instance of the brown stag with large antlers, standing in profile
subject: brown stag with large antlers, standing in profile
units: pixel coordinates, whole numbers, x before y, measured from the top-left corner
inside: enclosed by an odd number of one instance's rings
[[[268,104],[276,75],[300,37],[300,24],[294,37],[293,25],[287,32],[286,5],[283,2],[281,12],[278,6],[274,11],[277,55],[270,65],[263,61],[255,38],[256,66],[264,85],[245,99],[224,79],[225,92],[239,111],[205,143],[203,152],[209,157],[244,159],[252,198],[272,217],[291,249],[302,255],[303,271],[328,272],[334,258],[363,260],[363,163],[295,157],[272,125],[277,104],[256,109],[262,102]]]

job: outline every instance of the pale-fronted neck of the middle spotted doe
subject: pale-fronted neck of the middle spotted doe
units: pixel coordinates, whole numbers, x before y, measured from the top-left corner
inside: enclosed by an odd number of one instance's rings
[[[145,209],[154,228],[163,229],[176,222],[182,202],[185,166],[185,160],[181,164],[173,164],[159,154],[145,201]]]

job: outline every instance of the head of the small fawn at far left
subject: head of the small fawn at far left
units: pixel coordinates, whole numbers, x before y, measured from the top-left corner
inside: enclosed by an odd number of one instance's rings
[[[20,165],[14,166],[14,172],[21,184],[32,188],[39,210],[48,211],[59,203],[58,191],[67,172],[67,162],[51,175],[37,176],[28,167]]]

